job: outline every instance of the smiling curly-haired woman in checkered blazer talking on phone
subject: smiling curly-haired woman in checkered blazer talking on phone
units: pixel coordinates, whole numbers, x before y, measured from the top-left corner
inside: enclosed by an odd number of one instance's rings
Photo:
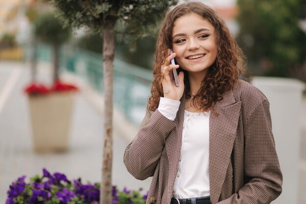
[[[208,6],[167,13],[147,113],[124,154],[136,179],[153,176],[147,204],[268,204],[282,192],[269,103],[239,79],[241,55]]]

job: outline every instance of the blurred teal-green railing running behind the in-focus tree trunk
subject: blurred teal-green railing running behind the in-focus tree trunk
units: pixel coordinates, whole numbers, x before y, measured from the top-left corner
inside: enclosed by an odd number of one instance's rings
[[[102,54],[66,46],[60,56],[61,68],[73,72],[103,93]],[[50,47],[39,45],[37,59],[51,62]],[[135,124],[139,124],[145,114],[152,80],[150,70],[114,60],[114,105]]]

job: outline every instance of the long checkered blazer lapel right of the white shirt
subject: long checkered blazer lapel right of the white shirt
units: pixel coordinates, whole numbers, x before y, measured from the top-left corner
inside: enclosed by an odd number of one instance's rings
[[[215,104],[209,120],[209,182],[210,197],[218,203],[221,187],[230,162],[240,116],[241,102],[235,101],[232,91]]]

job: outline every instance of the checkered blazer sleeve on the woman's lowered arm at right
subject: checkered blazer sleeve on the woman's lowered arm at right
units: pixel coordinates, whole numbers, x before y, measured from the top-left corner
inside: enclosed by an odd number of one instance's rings
[[[282,192],[283,176],[266,99],[244,124],[244,148],[245,184],[218,204],[269,204]]]

